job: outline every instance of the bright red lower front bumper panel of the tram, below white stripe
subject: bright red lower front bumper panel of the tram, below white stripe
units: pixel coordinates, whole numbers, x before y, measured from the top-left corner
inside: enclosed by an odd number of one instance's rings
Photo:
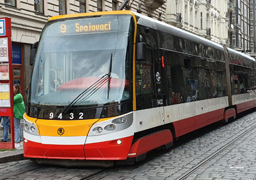
[[[85,145],[51,145],[27,140],[27,143],[24,142],[24,156],[49,159],[127,159],[133,136],[119,139],[122,141],[120,145],[117,140]]]

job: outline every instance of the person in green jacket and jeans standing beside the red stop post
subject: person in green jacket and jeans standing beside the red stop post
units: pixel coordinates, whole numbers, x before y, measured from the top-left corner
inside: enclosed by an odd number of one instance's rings
[[[13,86],[13,112],[14,112],[14,132],[15,132],[15,148],[19,148],[22,144],[21,141],[21,119],[25,113],[25,104],[23,96],[21,95],[21,87],[19,84]]]

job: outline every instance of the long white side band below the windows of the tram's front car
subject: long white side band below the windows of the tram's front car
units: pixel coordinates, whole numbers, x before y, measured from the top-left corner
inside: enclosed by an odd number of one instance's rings
[[[218,109],[224,109],[227,106],[227,97],[218,97],[135,111],[133,114],[134,131],[139,132],[162,125],[162,117],[161,114],[159,114],[159,112],[161,112],[160,109],[164,109],[164,122],[170,123],[207,112],[217,111]],[[140,121],[142,121],[142,124],[140,124]]]

